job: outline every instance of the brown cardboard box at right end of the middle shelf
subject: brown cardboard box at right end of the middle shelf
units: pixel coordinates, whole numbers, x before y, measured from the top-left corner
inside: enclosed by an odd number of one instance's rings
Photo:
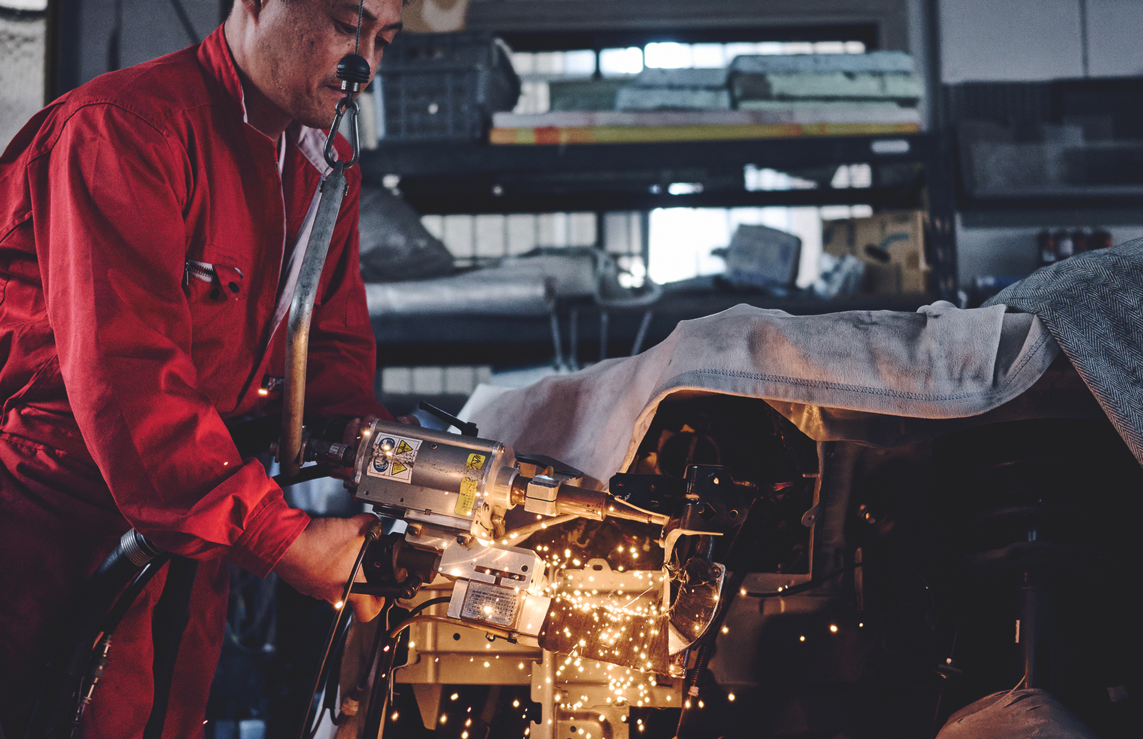
[[[869,218],[822,223],[822,250],[865,263],[862,292],[928,292],[932,267],[925,260],[924,210],[893,210]]]

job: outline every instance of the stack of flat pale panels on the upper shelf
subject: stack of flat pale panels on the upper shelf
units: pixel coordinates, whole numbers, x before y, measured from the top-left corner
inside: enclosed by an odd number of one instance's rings
[[[553,95],[546,113],[497,113],[491,143],[911,134],[920,130],[917,103],[924,93],[911,57],[900,51],[740,56],[727,67],[647,69],[622,85],[575,85],[575,95]],[[592,95],[592,86],[601,94]],[[598,110],[600,101],[613,99],[614,110]],[[574,110],[577,101],[597,110]]]

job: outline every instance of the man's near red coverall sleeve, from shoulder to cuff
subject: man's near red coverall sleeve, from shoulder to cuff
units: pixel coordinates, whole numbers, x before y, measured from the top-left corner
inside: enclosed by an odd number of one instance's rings
[[[59,369],[119,511],[158,546],[265,576],[309,523],[242,461],[197,387],[182,290],[185,150],[122,109],[78,111],[29,170]]]

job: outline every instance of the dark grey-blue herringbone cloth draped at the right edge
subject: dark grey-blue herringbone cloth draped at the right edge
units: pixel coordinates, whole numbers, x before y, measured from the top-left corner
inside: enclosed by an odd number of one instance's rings
[[[1143,464],[1143,239],[1044,267],[996,304],[1039,316]]]

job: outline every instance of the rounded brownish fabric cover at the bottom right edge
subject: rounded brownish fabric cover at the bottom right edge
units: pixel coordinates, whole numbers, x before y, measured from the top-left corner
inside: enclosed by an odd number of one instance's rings
[[[936,739],[1096,739],[1079,716],[1039,689],[985,696],[952,714]]]

